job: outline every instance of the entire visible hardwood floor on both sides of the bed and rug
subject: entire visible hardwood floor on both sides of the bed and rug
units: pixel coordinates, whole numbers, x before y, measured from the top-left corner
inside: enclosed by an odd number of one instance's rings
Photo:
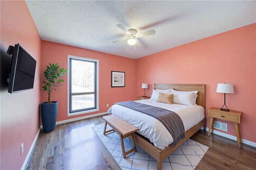
[[[101,116],[62,125],[49,133],[40,132],[26,170],[120,170],[94,133],[104,123]],[[196,170],[255,170],[256,148],[200,130],[191,137],[209,148]]]

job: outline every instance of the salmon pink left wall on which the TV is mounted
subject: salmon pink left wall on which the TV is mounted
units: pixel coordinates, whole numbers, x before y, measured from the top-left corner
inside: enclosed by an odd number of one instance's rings
[[[0,1],[1,9],[1,144],[0,169],[18,170],[28,155],[40,127],[40,48],[41,39],[26,2]],[[10,73],[9,45],[20,43],[37,61],[34,88],[10,94],[6,80]],[[24,152],[20,147],[24,143]]]

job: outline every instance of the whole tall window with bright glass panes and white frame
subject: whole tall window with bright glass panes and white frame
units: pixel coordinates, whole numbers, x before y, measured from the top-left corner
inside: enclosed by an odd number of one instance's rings
[[[68,116],[98,111],[98,63],[68,56]]]

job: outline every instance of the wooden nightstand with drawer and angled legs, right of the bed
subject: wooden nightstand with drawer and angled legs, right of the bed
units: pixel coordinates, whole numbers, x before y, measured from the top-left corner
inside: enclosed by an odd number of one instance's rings
[[[236,130],[237,145],[238,145],[238,148],[240,148],[240,143],[242,143],[242,139],[241,139],[239,124],[242,121],[242,117],[241,117],[242,112],[234,111],[234,110],[222,111],[220,110],[220,108],[211,107],[210,109],[208,109],[208,114],[210,117],[208,136],[210,136],[211,129],[213,131],[215,118],[234,122],[235,130]]]

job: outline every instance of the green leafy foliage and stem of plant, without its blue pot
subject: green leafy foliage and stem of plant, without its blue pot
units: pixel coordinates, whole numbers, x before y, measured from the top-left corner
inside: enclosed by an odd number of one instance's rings
[[[52,90],[56,90],[56,87],[62,86],[60,82],[64,82],[65,80],[61,79],[61,76],[65,76],[68,69],[60,68],[58,63],[50,64],[46,66],[46,70],[44,70],[44,86],[43,91],[47,91],[48,93],[48,104],[51,104],[51,93]]]

